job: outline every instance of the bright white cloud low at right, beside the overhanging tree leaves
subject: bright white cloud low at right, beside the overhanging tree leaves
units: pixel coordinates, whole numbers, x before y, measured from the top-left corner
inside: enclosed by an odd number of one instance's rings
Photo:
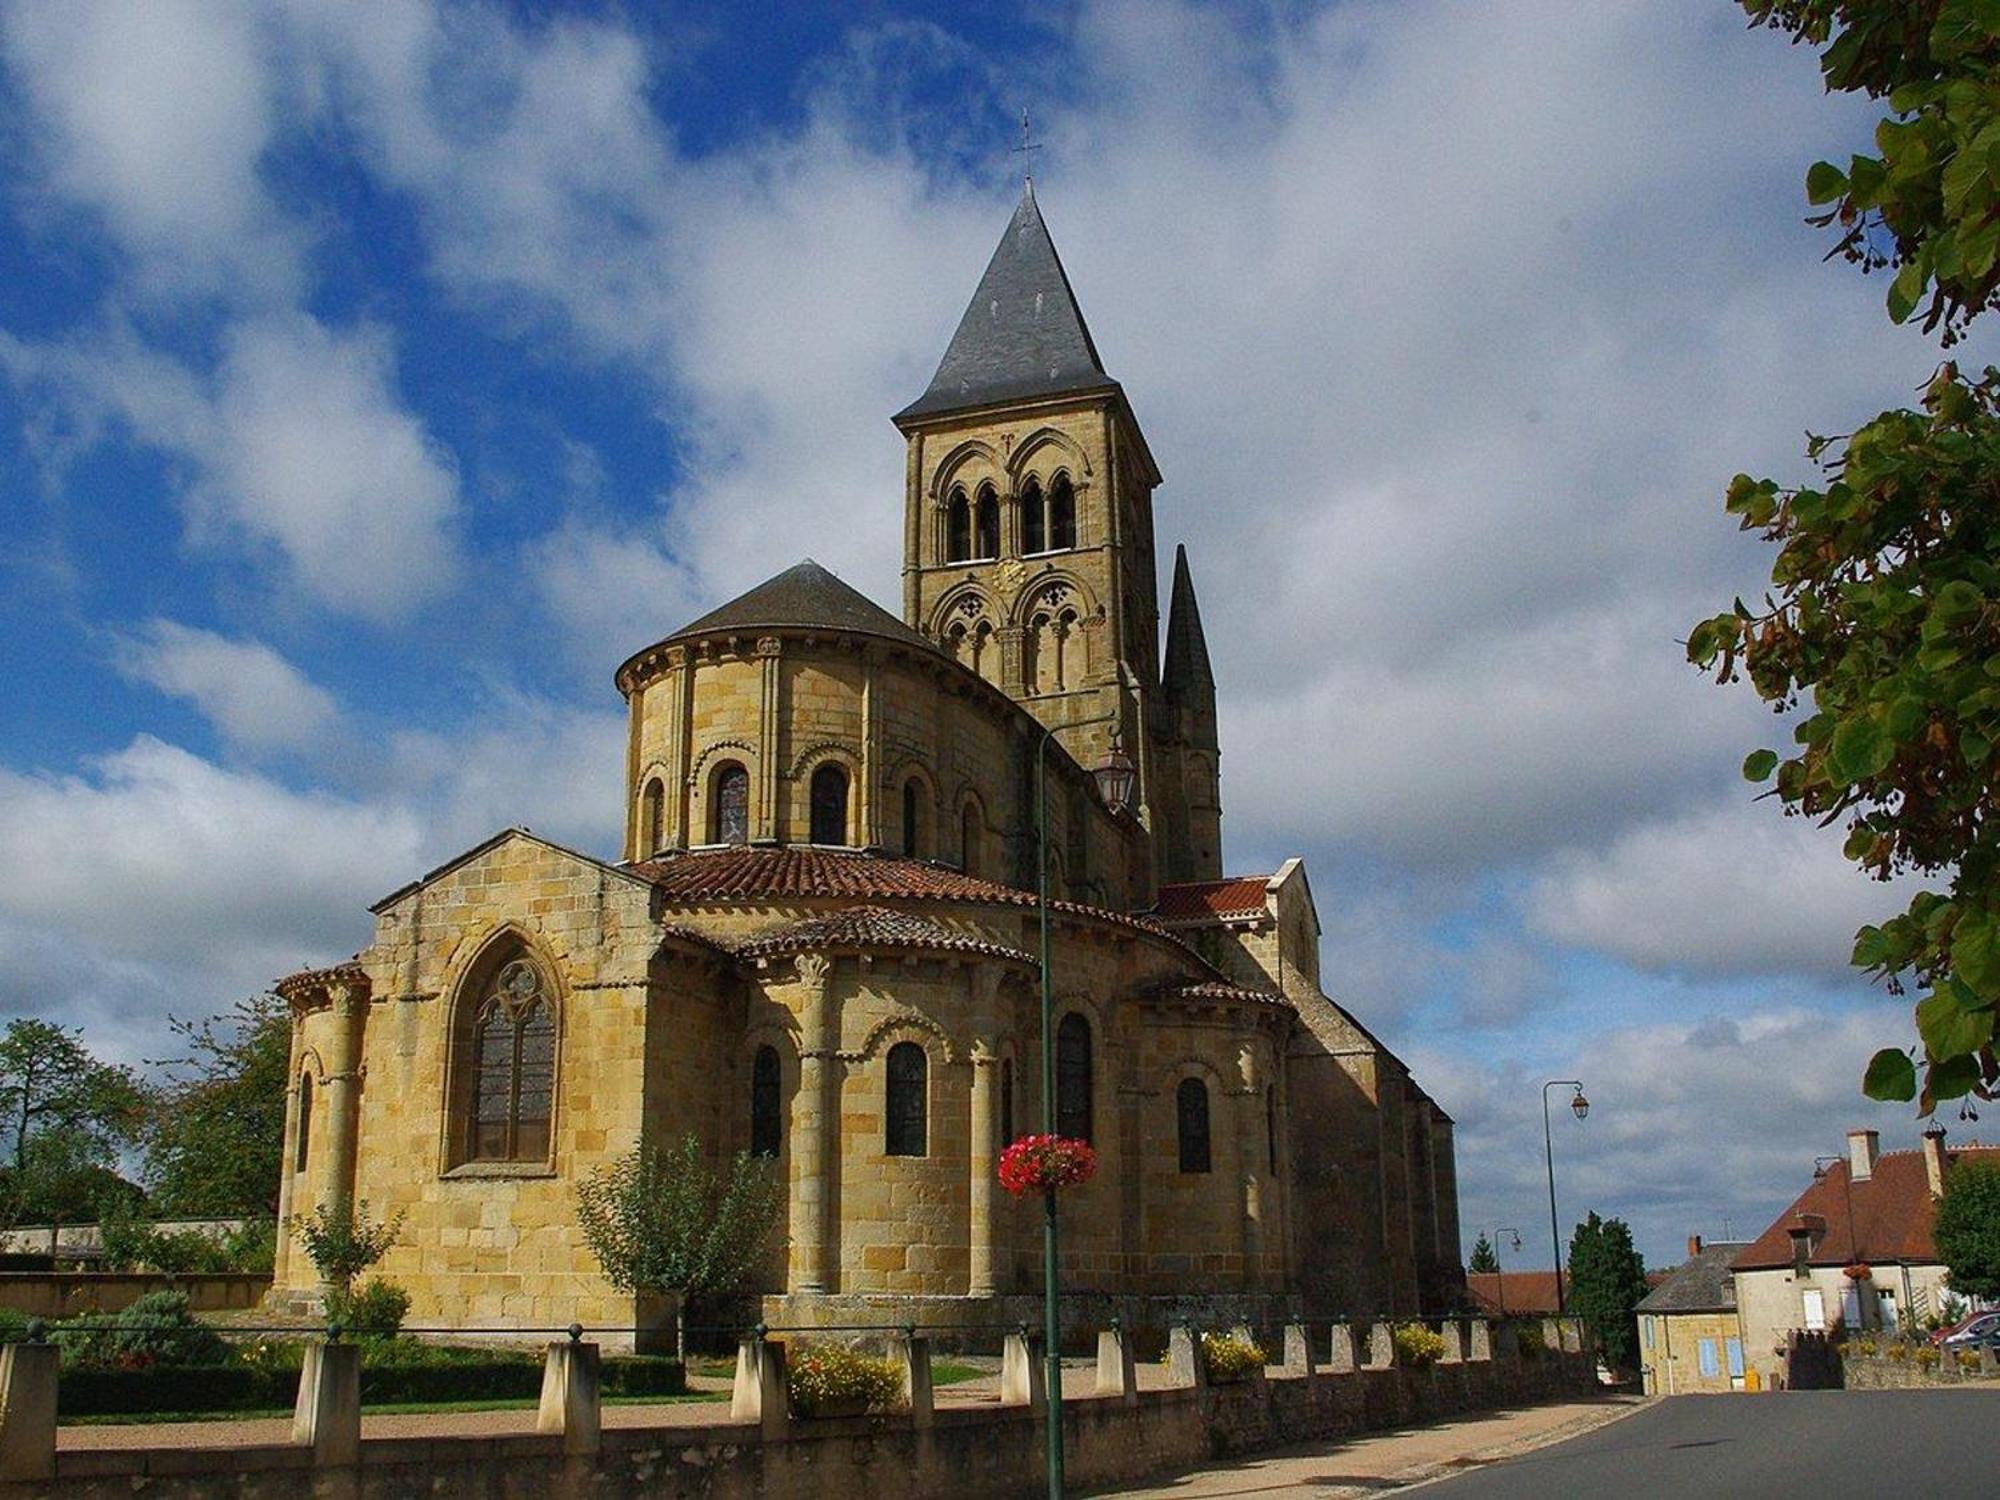
[[[1916,880],[1882,884],[1840,854],[1842,832],[1736,802],[1570,850],[1528,892],[1528,920],[1562,944],[1644,970],[1854,978],[1854,930],[1904,910]]]

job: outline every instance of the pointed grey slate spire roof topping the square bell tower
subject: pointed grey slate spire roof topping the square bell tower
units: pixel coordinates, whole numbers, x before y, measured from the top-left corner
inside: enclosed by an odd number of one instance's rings
[[[1116,390],[1062,270],[1056,242],[1024,182],[1014,218],[958,320],[930,388],[896,420],[996,402]]]

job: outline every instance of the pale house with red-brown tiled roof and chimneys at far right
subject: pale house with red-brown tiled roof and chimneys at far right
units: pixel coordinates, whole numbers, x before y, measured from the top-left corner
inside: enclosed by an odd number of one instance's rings
[[[1918,1150],[1884,1152],[1874,1130],[1822,1162],[1804,1192],[1732,1262],[1746,1358],[1776,1374],[1794,1332],[1898,1332],[1938,1316],[1950,1276],[1930,1238],[1944,1178],[1966,1156],[1932,1126]]]

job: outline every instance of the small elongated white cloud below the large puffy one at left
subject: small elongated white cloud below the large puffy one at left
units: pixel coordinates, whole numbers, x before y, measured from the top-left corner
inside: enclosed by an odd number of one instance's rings
[[[116,666],[190,700],[222,734],[254,750],[304,750],[336,718],[332,696],[270,646],[174,620],[150,620],[118,642]]]

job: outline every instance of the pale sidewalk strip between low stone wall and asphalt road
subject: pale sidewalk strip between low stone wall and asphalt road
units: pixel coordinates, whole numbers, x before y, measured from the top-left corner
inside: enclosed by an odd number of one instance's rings
[[[1504,1464],[1508,1458],[1566,1442],[1630,1416],[1644,1396],[1478,1412],[1420,1428],[1398,1428],[1344,1442],[1276,1448],[1254,1458],[1218,1460],[1188,1474],[1132,1490],[1094,1490],[1140,1500],[1218,1500],[1220,1496],[1372,1496],[1412,1484]]]

